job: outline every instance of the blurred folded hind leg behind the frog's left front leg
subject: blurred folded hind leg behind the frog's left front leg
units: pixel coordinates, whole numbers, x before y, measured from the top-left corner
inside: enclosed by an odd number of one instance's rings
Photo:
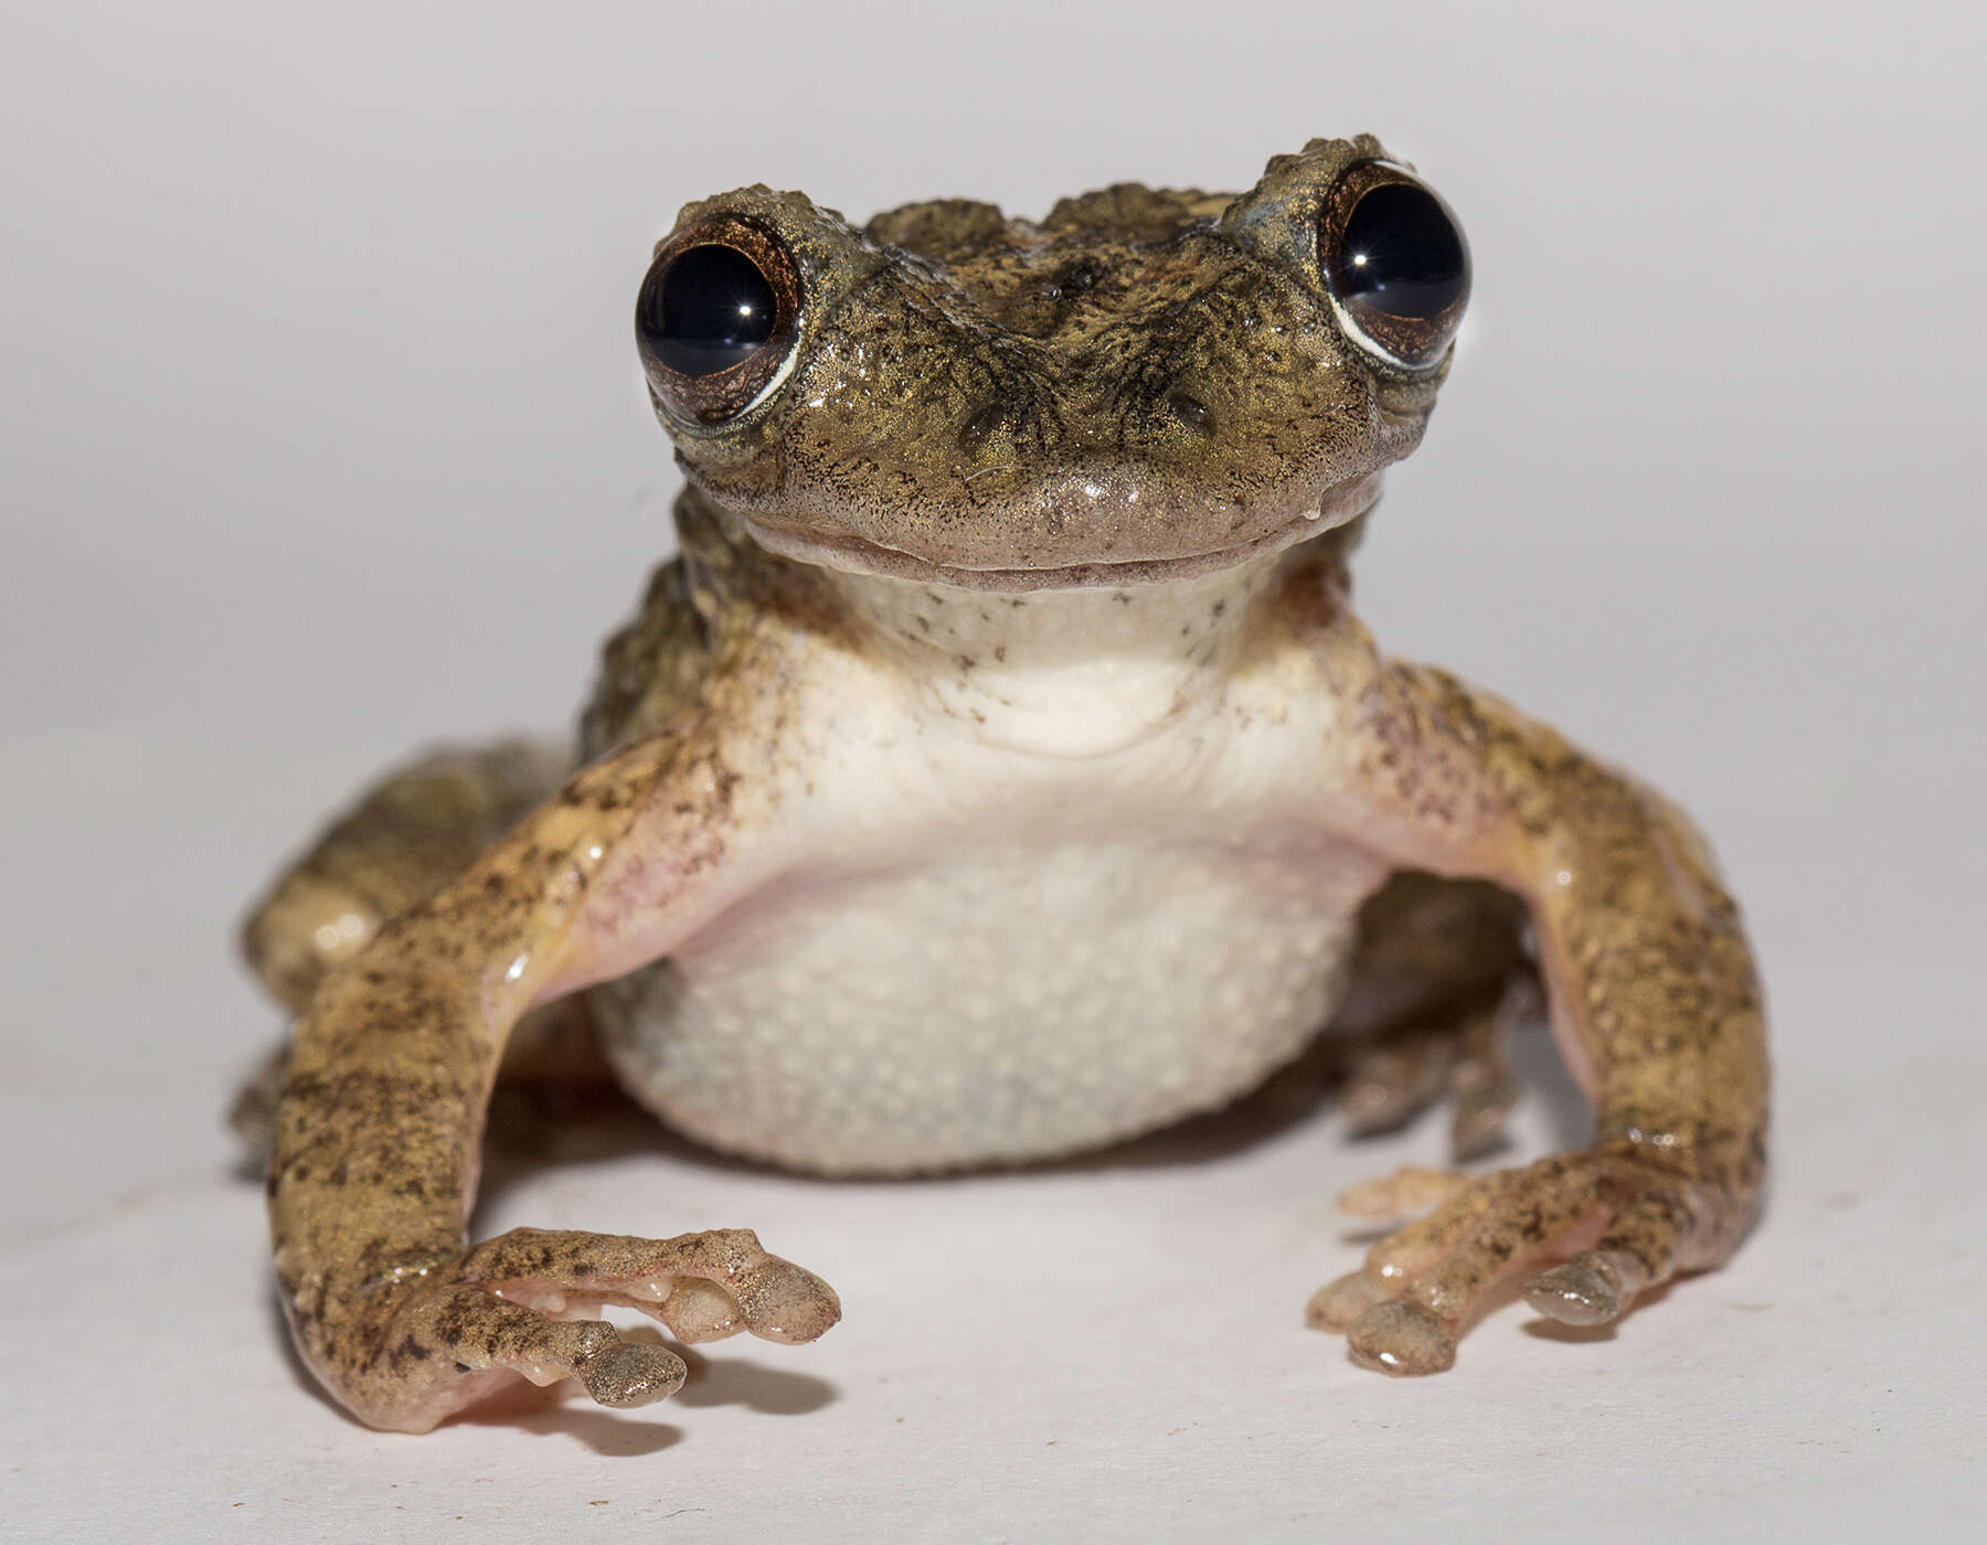
[[[395,769],[340,814],[242,921],[242,955],[290,1013],[310,1007],[332,967],[380,925],[465,870],[572,772],[568,751],[538,741],[435,751]],[[266,1154],[288,1045],[234,1100],[229,1124]],[[604,1076],[580,1001],[552,1003],[513,1033],[503,1076],[574,1082]]]

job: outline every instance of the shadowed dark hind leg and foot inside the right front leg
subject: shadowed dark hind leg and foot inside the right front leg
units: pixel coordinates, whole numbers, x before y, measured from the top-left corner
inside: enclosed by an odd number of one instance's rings
[[[1445,1094],[1456,1160],[1494,1148],[1516,1104],[1510,1031],[1540,1013],[1516,896],[1474,880],[1395,874],[1359,912],[1339,1096],[1357,1134],[1393,1130]]]

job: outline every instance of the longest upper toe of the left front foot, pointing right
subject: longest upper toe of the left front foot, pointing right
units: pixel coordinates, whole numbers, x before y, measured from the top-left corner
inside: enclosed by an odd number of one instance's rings
[[[739,1331],[767,1340],[813,1340],[842,1313],[833,1287],[767,1253],[751,1229],[674,1239],[513,1229],[477,1245],[463,1259],[461,1281],[548,1315],[626,1305],[684,1340],[717,1340]]]

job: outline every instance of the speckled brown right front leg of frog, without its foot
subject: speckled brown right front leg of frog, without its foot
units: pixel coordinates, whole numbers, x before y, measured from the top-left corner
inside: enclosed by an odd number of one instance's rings
[[[1431,866],[1530,902],[1600,1142],[1709,1182],[1725,1213],[1713,1229],[1743,1231],[1764,1168],[1766,1039],[1703,838],[1657,794],[1441,671],[1389,665],[1367,707],[1361,771],[1387,824]]]

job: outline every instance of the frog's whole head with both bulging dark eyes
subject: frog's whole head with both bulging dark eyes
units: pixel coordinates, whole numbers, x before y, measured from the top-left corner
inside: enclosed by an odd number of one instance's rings
[[[1468,298],[1379,141],[1242,197],[864,228],[763,187],[684,209],[636,336],[691,483],[775,552],[990,590],[1220,568],[1343,524],[1421,441]]]

